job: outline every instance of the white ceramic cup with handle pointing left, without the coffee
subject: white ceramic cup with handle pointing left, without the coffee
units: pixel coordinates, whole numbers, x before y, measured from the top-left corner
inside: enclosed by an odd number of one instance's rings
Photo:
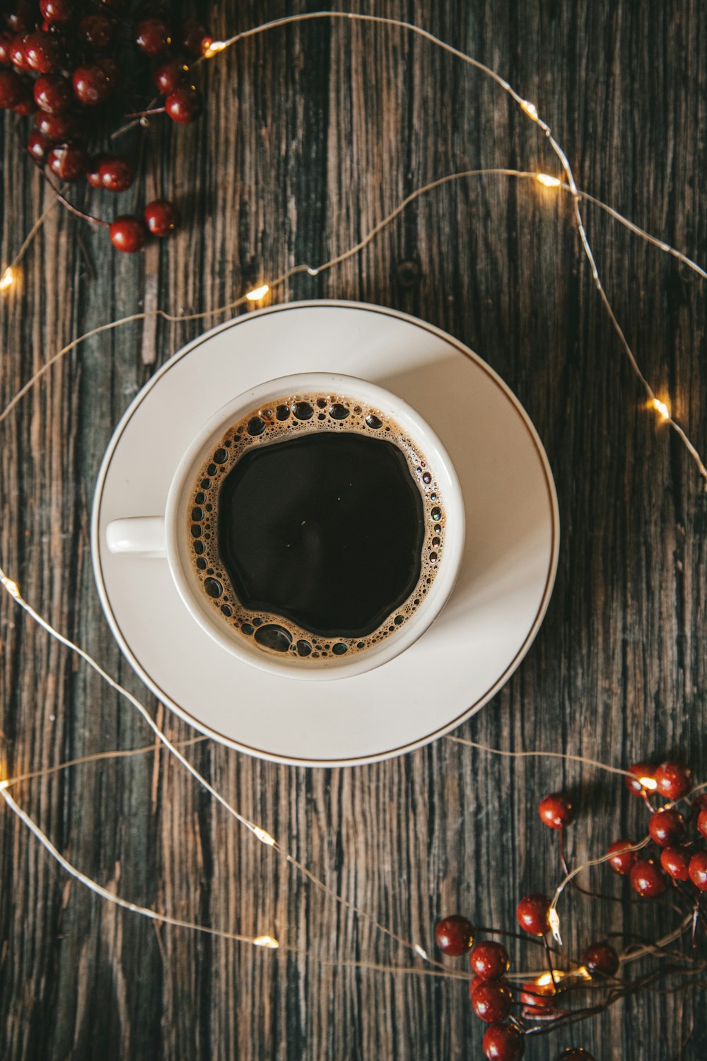
[[[184,512],[199,469],[231,425],[284,395],[317,393],[336,394],[370,405],[404,430],[429,465],[440,488],[444,504],[444,543],[439,569],[428,592],[399,630],[351,657],[300,659],[293,658],[288,653],[275,655],[263,650],[215,613],[193,571],[192,542],[187,535]],[[439,615],[459,573],[464,545],[464,504],[449,456],[419,413],[401,398],[366,380],[331,372],[307,372],[269,380],[223,405],[181,457],[172,479],[164,515],[113,520],[106,528],[106,542],[112,553],[143,557],[151,562],[166,561],[190,614],[225,651],[252,666],[289,678],[343,678],[372,671],[394,659],[409,648]]]

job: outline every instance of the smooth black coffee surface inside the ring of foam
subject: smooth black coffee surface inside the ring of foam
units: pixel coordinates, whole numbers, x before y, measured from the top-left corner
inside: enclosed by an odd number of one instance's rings
[[[420,578],[422,497],[383,438],[316,432],[250,450],[217,525],[238,599],[322,638],[372,633]]]

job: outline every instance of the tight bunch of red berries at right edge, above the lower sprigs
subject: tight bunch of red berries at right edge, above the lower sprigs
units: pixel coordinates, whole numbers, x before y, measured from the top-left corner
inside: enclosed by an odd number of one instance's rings
[[[651,812],[648,831],[655,848],[631,851],[626,850],[632,846],[631,840],[615,840],[607,850],[609,866],[621,876],[628,876],[631,887],[643,899],[661,895],[674,881],[687,889],[692,886],[696,900],[700,892],[707,891],[707,850],[702,842],[707,838],[707,794],[697,796],[689,808],[688,818],[694,831],[690,837],[688,820],[671,805],[692,787],[688,767],[667,761],[657,767],[637,763],[629,769],[633,777],[626,778],[626,787],[632,795],[641,797]],[[651,798],[655,795],[670,803],[654,807]]]

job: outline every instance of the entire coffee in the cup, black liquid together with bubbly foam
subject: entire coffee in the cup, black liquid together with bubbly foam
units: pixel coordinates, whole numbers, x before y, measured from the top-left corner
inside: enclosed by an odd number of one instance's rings
[[[403,628],[439,570],[444,524],[424,454],[341,394],[250,410],[205,455],[187,508],[214,616],[293,661],[356,655]]]

